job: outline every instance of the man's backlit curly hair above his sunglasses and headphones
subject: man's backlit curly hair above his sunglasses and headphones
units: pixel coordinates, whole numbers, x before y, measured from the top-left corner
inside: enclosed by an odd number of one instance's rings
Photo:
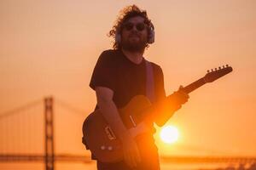
[[[116,41],[116,36],[117,36],[117,34],[120,34],[122,32],[124,23],[127,20],[129,20],[133,17],[136,17],[136,16],[141,16],[144,18],[144,23],[147,25],[148,34],[149,34],[149,31],[151,29],[150,27],[152,27],[153,24],[152,24],[151,20],[148,19],[147,11],[138,8],[137,5],[134,5],[134,4],[127,6],[127,7],[123,8],[122,10],[120,10],[118,19],[115,21],[115,24],[113,25],[112,30],[110,30],[108,32],[108,37],[113,37],[113,39],[114,39],[113,49],[121,48],[121,44]],[[148,48],[148,47],[149,47],[149,45],[147,43],[146,48]]]

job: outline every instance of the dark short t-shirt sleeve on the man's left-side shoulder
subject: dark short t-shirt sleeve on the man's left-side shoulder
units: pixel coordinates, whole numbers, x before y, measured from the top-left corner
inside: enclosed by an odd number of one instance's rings
[[[98,86],[110,88],[114,91],[114,67],[111,54],[104,51],[96,62],[90,79],[90,88],[94,89]]]

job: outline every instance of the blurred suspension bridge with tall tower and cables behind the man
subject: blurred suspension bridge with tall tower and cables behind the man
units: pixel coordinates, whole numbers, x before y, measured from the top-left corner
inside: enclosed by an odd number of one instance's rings
[[[95,163],[81,143],[85,113],[61,99],[47,97],[0,114],[0,169],[3,162],[41,162],[54,170],[55,162]],[[256,157],[161,156],[175,164],[253,164]]]

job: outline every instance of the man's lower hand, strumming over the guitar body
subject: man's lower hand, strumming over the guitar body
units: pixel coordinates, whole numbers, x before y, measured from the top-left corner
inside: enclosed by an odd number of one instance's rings
[[[141,161],[141,156],[135,139],[131,133],[125,134],[121,139],[124,151],[124,161],[129,167],[137,167],[137,163]]]

